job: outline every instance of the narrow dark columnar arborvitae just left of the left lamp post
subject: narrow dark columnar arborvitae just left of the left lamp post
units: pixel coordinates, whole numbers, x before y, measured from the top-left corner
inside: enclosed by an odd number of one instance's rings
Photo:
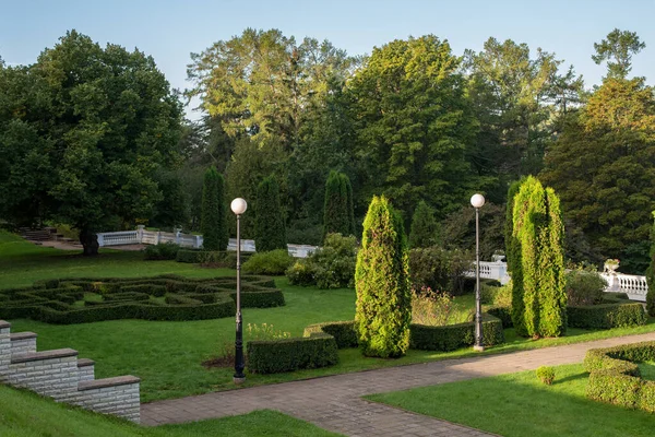
[[[206,250],[225,250],[227,248],[224,185],[223,175],[216,170],[216,167],[212,166],[205,172],[200,229],[203,247]]]

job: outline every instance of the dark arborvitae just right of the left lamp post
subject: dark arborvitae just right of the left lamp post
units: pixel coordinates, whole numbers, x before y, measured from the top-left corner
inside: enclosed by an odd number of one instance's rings
[[[258,252],[287,249],[279,188],[273,176],[261,181],[254,204],[254,247]]]

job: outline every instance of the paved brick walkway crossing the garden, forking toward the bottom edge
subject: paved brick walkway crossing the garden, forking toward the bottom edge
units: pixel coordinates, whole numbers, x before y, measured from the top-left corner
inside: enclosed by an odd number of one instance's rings
[[[141,423],[162,425],[272,409],[347,436],[486,436],[477,429],[368,402],[362,395],[580,363],[587,350],[655,340],[655,332],[567,346],[415,364],[222,391],[141,405]]]

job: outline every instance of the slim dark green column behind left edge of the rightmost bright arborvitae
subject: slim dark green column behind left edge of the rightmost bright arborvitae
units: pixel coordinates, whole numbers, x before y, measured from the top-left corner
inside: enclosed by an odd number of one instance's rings
[[[526,335],[523,312],[523,271],[521,270],[521,244],[514,235],[514,198],[525,178],[512,182],[508,190],[505,211],[505,260],[512,275],[512,322],[519,335]]]

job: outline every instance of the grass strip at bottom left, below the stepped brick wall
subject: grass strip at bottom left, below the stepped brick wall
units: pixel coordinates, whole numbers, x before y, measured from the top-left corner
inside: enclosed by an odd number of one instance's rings
[[[285,414],[262,410],[240,416],[146,428],[126,421],[58,404],[34,393],[0,386],[0,436],[201,437],[315,436],[329,433]]]

